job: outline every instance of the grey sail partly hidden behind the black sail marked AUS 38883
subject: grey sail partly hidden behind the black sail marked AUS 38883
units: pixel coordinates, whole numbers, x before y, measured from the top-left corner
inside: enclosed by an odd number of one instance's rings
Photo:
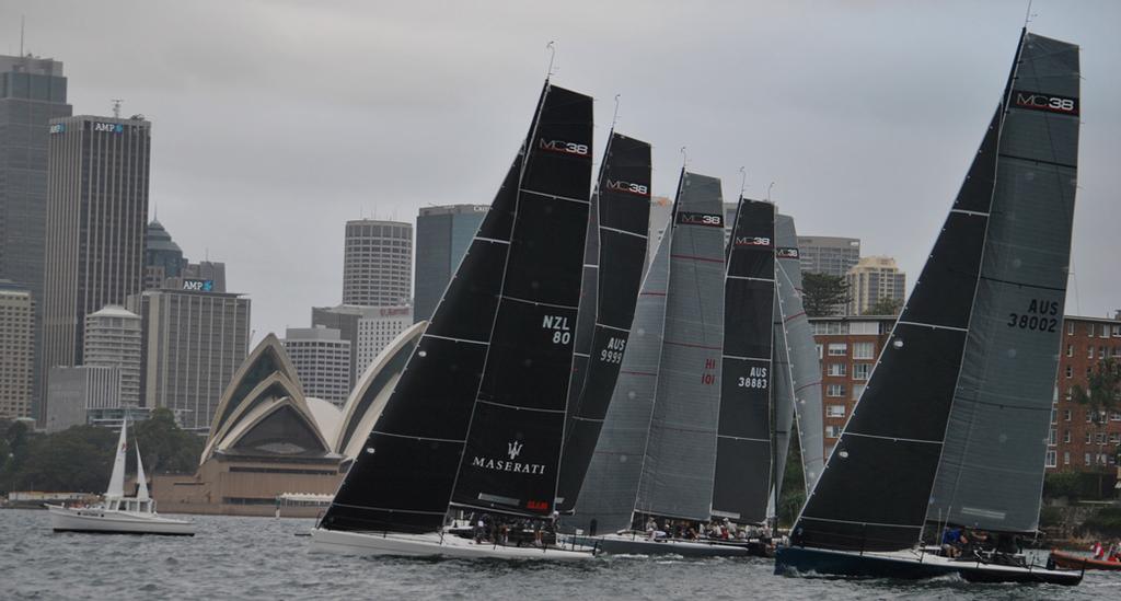
[[[802,304],[802,261],[798,258],[798,233],[794,219],[779,214],[775,219],[775,242],[778,244],[776,261],[776,279],[778,289],[778,307],[781,309],[782,343],[787,352],[785,368],[789,377],[786,381],[776,381],[776,406],[784,403],[793,405],[797,416],[798,444],[802,449],[802,471],[806,490],[814,488],[814,482],[825,466],[824,426],[822,415],[822,363],[817,357],[817,345],[809,320]],[[780,336],[776,332],[776,341]],[[778,343],[776,343],[778,348]],[[779,378],[781,373],[776,375]],[[781,392],[781,395],[780,395]],[[785,422],[784,422],[785,419]],[[779,432],[789,432],[790,409],[776,414],[776,437]],[[785,426],[785,427],[784,427]],[[776,484],[782,490],[781,470],[786,465],[788,444],[779,446],[781,453],[776,457],[778,478]]]

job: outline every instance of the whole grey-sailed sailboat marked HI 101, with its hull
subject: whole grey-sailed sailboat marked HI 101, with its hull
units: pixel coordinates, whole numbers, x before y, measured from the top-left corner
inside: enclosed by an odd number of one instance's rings
[[[606,553],[723,554],[715,545],[641,531],[649,519],[712,517],[726,262],[720,179],[683,169],[676,196],[575,514],[566,520],[573,539]],[[747,549],[730,546],[729,554]]]

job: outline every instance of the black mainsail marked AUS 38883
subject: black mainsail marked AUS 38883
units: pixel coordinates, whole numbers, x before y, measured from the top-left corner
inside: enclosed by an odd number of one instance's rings
[[[767,519],[775,296],[775,205],[741,197],[724,279],[724,351],[712,494],[712,515],[740,524]]]

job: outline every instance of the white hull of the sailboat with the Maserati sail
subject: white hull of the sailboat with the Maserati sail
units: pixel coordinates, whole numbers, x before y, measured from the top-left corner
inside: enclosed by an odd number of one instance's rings
[[[554,562],[590,560],[591,551],[563,551],[558,548],[510,547],[483,543],[458,536],[428,534],[362,534],[315,528],[312,530],[312,551],[342,555],[396,555],[413,557],[455,557],[465,560],[545,560]]]

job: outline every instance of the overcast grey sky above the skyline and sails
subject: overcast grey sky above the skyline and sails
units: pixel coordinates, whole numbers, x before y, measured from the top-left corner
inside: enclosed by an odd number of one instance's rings
[[[75,114],[151,119],[151,206],[192,259],[226,262],[256,340],[342,296],[343,224],[490,203],[557,43],[596,98],[602,149],[655,147],[725,201],[772,198],[802,234],[860,238],[917,276],[999,101],[1026,2],[0,0],[0,52],[65,64]],[[1082,46],[1067,313],[1121,308],[1121,2],[1039,1]],[[1113,174],[1113,175],[1111,175]],[[1076,286],[1075,286],[1076,284]],[[1077,290],[1075,293],[1075,290]]]

